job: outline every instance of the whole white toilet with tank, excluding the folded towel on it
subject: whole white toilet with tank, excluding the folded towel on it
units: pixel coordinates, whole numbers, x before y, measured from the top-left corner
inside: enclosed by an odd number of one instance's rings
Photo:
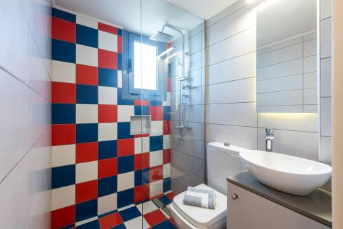
[[[216,194],[215,209],[199,208],[183,204],[185,192],[174,197],[170,204],[171,215],[179,229],[226,228],[226,178],[242,171],[244,167],[239,160],[243,148],[224,143],[209,143],[207,146],[207,181],[196,188],[211,189]]]

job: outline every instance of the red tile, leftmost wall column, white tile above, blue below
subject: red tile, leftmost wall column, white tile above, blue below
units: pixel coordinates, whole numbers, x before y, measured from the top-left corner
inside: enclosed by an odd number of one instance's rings
[[[75,84],[52,82],[51,84],[51,101],[61,104],[76,103],[76,86]]]

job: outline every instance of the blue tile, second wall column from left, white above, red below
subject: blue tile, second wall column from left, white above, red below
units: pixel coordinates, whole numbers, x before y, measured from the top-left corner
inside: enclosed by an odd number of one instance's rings
[[[97,141],[97,123],[76,124],[76,143]]]

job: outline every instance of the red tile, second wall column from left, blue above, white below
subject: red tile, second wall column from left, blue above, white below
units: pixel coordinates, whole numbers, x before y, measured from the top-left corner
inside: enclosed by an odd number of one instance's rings
[[[76,144],[76,163],[97,160],[97,142]]]

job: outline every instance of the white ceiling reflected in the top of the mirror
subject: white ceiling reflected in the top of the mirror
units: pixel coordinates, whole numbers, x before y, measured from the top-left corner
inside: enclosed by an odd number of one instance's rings
[[[259,0],[257,47],[317,29],[316,0]]]

